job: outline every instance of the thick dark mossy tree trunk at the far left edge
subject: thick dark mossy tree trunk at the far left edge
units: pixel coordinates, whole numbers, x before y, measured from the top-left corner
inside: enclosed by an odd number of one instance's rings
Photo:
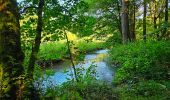
[[[16,100],[19,77],[23,74],[24,54],[21,50],[19,13],[16,0],[0,0],[0,69],[3,72],[2,98]]]

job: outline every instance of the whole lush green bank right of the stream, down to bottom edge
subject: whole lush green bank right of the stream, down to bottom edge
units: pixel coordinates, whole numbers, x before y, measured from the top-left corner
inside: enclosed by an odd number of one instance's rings
[[[119,65],[114,79],[121,100],[170,99],[170,41],[119,45],[110,52]]]

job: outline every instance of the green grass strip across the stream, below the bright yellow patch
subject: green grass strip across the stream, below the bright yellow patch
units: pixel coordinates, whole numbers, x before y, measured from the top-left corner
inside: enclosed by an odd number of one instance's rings
[[[85,54],[90,51],[106,48],[103,42],[74,41],[70,43],[71,52],[74,56]],[[39,60],[62,60],[68,58],[68,48],[66,42],[47,42],[42,43],[38,54]]]

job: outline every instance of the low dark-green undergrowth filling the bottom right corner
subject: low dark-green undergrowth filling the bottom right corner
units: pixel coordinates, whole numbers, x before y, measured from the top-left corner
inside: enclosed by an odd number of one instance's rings
[[[167,100],[169,92],[164,85],[155,81],[146,81],[136,84],[134,87],[129,86],[117,87],[120,100]]]

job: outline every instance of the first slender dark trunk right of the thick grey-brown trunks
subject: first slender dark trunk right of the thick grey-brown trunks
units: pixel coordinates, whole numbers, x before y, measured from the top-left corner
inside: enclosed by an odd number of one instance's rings
[[[143,40],[146,42],[146,0],[143,1],[144,11],[143,11]]]

